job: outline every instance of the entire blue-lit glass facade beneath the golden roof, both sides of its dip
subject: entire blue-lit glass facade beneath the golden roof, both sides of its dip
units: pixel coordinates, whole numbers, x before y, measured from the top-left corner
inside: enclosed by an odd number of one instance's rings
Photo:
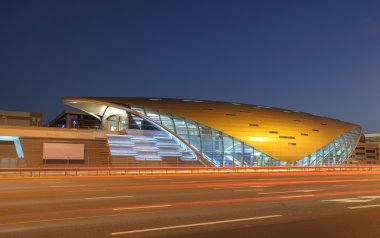
[[[355,128],[303,159],[284,162],[271,158],[221,131],[186,118],[142,107],[131,107],[131,109],[172,130],[199,151],[210,164],[220,167],[342,164],[354,150],[361,133],[360,128]]]

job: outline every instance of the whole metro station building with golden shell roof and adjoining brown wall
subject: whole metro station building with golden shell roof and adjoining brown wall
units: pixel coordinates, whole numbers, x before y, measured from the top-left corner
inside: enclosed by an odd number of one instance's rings
[[[0,126],[0,140],[18,141],[13,149],[17,159],[3,158],[0,166],[335,165],[350,163],[362,135],[352,123],[241,103],[165,98],[63,102],[92,115],[100,129]]]

